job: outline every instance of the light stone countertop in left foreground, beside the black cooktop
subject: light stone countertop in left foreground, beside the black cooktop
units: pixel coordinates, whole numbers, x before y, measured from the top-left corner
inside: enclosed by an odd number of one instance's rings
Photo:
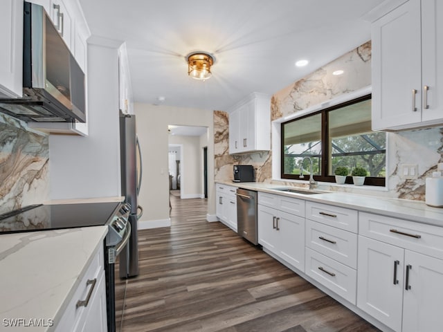
[[[107,230],[102,225],[1,234],[0,331],[53,331]],[[21,326],[8,326],[14,319],[23,320]],[[39,319],[46,326],[29,325]]]

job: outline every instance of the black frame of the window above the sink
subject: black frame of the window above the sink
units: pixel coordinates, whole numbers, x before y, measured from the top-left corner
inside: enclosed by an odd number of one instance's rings
[[[305,114],[298,118],[293,118],[291,120],[287,120],[280,123],[280,134],[282,140],[280,142],[280,178],[289,179],[289,180],[300,180],[299,174],[285,174],[284,173],[284,124],[294,122],[303,118],[308,118],[309,116],[316,116],[317,114],[321,114],[321,163],[320,163],[320,173],[322,175],[314,175],[315,181],[320,182],[330,182],[335,183],[334,175],[323,175],[328,174],[328,166],[329,166],[329,111],[334,111],[334,109],[341,109],[342,107],[346,107],[352,104],[356,104],[358,102],[363,102],[365,100],[371,100],[372,93],[368,93],[362,95],[361,97],[354,98],[352,100],[347,100],[345,102],[341,102],[331,107],[326,107],[325,109],[320,109],[318,111],[314,111],[312,113]],[[386,148],[385,148],[386,154]],[[352,176],[348,175],[346,177],[345,183],[352,184]],[[365,185],[372,185],[378,187],[384,187],[386,185],[386,177],[379,178],[374,176],[366,176]]]

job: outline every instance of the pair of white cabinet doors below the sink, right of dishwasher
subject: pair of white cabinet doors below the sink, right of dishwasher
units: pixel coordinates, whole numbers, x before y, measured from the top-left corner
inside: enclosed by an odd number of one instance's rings
[[[257,210],[258,243],[291,266],[304,271],[305,219],[260,203]]]

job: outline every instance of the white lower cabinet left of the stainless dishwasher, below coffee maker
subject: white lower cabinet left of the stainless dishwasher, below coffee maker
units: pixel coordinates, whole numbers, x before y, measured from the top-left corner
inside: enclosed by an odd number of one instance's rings
[[[217,194],[217,205],[215,205],[217,218],[237,232],[237,196],[235,195],[237,188],[217,183],[215,192]]]

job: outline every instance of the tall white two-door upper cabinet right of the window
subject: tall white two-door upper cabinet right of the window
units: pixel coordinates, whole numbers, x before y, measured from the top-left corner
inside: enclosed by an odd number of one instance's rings
[[[443,3],[409,0],[372,23],[372,129],[443,123]]]

